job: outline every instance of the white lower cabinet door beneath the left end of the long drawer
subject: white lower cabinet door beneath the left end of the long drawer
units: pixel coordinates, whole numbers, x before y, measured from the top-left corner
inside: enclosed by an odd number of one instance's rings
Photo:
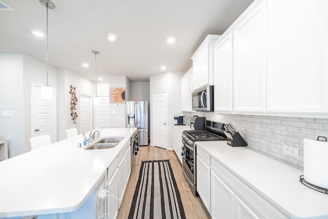
[[[235,193],[211,171],[212,218],[235,218]]]

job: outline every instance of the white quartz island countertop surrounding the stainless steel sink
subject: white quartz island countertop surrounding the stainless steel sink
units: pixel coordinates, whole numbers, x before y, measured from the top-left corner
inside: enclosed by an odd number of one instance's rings
[[[78,135],[0,162],[0,217],[77,210],[135,130],[103,129],[100,137],[125,136],[111,149],[78,149]]]

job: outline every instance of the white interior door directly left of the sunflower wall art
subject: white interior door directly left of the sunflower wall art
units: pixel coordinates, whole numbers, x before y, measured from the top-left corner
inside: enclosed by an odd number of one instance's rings
[[[94,105],[94,128],[109,127],[109,116],[110,116],[110,106],[109,106],[109,96],[99,96],[99,104]]]

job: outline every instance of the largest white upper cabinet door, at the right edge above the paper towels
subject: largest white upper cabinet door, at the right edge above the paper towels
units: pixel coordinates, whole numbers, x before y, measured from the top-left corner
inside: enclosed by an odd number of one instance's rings
[[[327,113],[328,2],[267,4],[267,111]]]

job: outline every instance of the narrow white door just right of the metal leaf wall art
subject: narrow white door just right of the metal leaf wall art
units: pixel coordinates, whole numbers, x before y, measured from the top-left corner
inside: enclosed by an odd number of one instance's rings
[[[80,97],[80,133],[88,132],[91,126],[91,96],[81,94]]]

